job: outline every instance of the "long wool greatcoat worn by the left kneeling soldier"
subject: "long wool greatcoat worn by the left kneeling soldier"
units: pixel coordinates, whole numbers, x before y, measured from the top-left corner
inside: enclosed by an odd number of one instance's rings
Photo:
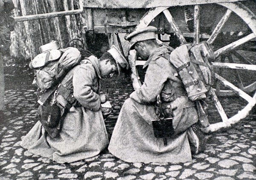
[[[99,62],[91,56],[90,61],[84,60],[72,71],[73,95],[82,106],[70,109],[59,137],[51,138],[38,121],[20,144],[29,152],[57,163],[93,157],[108,146],[108,135],[100,110]]]

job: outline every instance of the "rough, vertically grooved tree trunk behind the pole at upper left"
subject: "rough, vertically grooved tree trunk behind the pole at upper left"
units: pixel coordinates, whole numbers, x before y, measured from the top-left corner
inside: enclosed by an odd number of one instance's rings
[[[15,17],[80,8],[79,0],[15,0],[15,3]],[[85,44],[81,29],[83,25],[84,18],[81,14],[16,23],[15,31],[12,32],[11,55],[32,59],[39,54],[41,45],[52,40],[57,40],[62,48],[73,38],[78,38]]]

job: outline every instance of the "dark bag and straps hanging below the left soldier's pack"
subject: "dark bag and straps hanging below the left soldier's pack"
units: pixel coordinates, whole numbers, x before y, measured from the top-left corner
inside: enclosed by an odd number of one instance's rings
[[[71,69],[57,87],[41,94],[38,102],[38,119],[50,137],[59,136],[64,118],[72,106],[80,106],[73,96],[73,72]]]

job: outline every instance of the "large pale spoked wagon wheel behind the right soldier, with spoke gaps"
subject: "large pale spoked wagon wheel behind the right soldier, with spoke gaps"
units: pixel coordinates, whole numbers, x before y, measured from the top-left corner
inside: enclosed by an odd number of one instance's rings
[[[193,33],[183,33],[182,29],[184,27],[182,23],[175,21],[177,8],[184,7],[157,7],[151,9],[142,17],[136,27],[136,30],[146,26],[159,28],[159,23],[158,25],[156,23],[157,19],[163,21],[162,18],[164,16],[180,44],[189,42],[197,45],[201,40],[207,40],[212,46],[216,56],[216,61],[212,63],[215,69],[216,83],[214,89],[210,90],[212,98],[208,102],[212,106],[209,109],[209,120],[213,119],[213,121],[210,122],[211,125],[206,131],[216,131],[238,122],[246,117],[256,104],[256,54],[254,54],[255,51],[253,49],[255,48],[256,38],[256,16],[242,3],[216,3],[211,5],[223,10],[218,23],[211,23],[214,20],[211,20],[210,14],[202,13],[201,11],[205,6],[210,6],[209,4],[188,6],[188,8],[192,9]],[[221,39],[221,34],[224,34],[224,31],[230,33],[227,26],[232,25],[234,17],[239,19],[240,23],[243,23],[246,28],[240,34],[237,33],[236,38]],[[204,26],[204,29],[200,28],[201,20],[208,20],[212,27]],[[224,30],[225,26],[226,30]],[[172,46],[172,42],[170,46]],[[130,51],[130,54],[134,54],[134,51]],[[131,61],[135,64],[135,66],[131,67],[134,72],[132,76],[134,77],[134,89],[137,89],[138,86],[141,86],[137,66],[143,65],[145,61],[135,61],[135,56]],[[233,74],[230,75],[229,72]],[[222,97],[226,95],[236,95],[237,97]],[[218,114],[220,120],[216,120]]]

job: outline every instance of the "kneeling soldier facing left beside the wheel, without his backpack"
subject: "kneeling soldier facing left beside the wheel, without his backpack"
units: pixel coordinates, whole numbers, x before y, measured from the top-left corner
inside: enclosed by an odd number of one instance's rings
[[[155,27],[148,26],[127,37],[130,49],[146,60],[143,68],[147,70],[143,85],[121,109],[108,150],[127,162],[185,163],[192,161],[192,153],[204,150],[204,137],[196,125],[195,105],[182,81],[173,75],[177,70],[164,56],[170,51],[158,45],[155,31]],[[157,97],[161,97],[158,107]],[[163,124],[154,122],[159,119]],[[163,134],[159,134],[161,127]]]

